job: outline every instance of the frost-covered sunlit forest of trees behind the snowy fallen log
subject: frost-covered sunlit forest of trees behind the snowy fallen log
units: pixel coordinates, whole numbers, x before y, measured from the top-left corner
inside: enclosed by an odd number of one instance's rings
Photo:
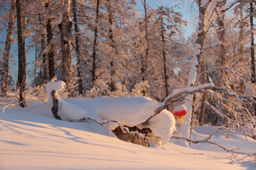
[[[197,12],[196,32],[188,38],[178,6],[152,8],[148,0],[2,0],[1,29],[7,34],[0,51],[1,96],[17,91],[21,107],[29,96],[46,102],[46,83],[62,80],[62,98],[146,96],[165,102],[170,111],[186,103],[186,127],[241,127],[255,139],[255,1],[182,3]],[[9,71],[16,42],[17,81]],[[29,71],[28,54],[34,57]]]

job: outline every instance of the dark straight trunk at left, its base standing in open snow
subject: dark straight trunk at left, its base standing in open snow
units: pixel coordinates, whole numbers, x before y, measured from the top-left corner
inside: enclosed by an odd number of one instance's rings
[[[18,32],[18,88],[20,89],[19,102],[21,107],[26,107],[26,46],[23,36],[23,26],[21,19],[21,0],[16,0],[17,9],[17,32]]]

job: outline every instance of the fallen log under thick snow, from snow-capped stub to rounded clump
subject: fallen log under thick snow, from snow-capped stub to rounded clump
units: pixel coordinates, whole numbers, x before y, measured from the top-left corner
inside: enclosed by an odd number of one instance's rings
[[[56,119],[91,120],[106,125],[120,139],[143,146],[167,143],[175,131],[175,119],[168,110],[162,109],[151,117],[164,103],[146,97],[98,97],[78,99],[79,102],[72,104],[58,96],[57,91],[65,85],[63,81],[46,84],[50,108]]]

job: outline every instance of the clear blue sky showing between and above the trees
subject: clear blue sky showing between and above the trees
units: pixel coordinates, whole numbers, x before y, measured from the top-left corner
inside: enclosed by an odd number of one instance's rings
[[[135,8],[137,10],[143,10],[143,6],[142,6],[142,2],[141,0],[136,0],[137,5],[135,6]],[[168,3],[167,3],[168,2]],[[193,24],[191,24],[191,14],[189,12],[187,12],[188,7],[186,7],[186,5],[184,5],[184,3],[180,3],[180,1],[164,1],[164,0],[146,0],[146,3],[149,7],[151,8],[157,8],[157,6],[175,6],[178,5],[180,7],[179,8],[175,8],[175,10],[177,12],[181,12],[181,14],[183,14],[183,19],[188,21],[188,26],[184,26],[184,36],[187,38],[188,36],[190,36],[192,34],[192,32],[194,32],[194,27]],[[0,8],[0,14],[2,15],[5,12],[5,10],[3,8]],[[17,35],[13,35],[12,39],[14,39]],[[6,39],[6,31],[5,28],[3,28],[3,31],[0,32],[0,48],[2,49],[2,51],[5,48],[5,39]],[[18,53],[17,53],[17,41],[13,42],[11,45],[11,59],[14,61],[13,63],[9,62],[9,68],[10,68],[10,72],[12,77],[14,78],[14,80],[17,80],[17,72],[18,72]],[[1,57],[2,58],[2,57]],[[31,63],[32,64],[28,64],[27,65],[27,72],[30,69],[33,69],[34,65],[33,65],[33,61],[35,60],[35,54],[33,51],[28,51],[27,52],[27,63]],[[27,83],[29,83],[29,81],[33,81],[33,78],[30,79],[27,76]]]

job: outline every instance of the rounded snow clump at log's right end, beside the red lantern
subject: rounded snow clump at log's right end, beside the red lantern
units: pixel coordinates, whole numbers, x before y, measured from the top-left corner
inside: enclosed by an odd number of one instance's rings
[[[156,137],[160,137],[163,143],[167,143],[176,130],[175,118],[171,112],[164,109],[149,120],[150,129]]]

